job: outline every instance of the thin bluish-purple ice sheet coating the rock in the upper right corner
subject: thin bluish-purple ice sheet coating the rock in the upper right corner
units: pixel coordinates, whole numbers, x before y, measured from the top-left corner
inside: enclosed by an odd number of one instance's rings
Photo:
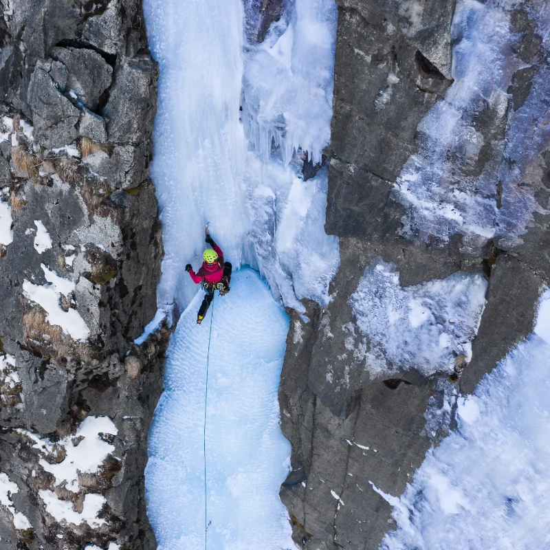
[[[408,159],[395,184],[397,199],[407,207],[403,221],[409,238],[446,241],[461,232],[465,246],[494,236],[511,244],[525,233],[533,212],[540,211],[522,174],[538,170],[536,159],[549,146],[550,68],[541,64],[525,104],[516,111],[509,108],[511,78],[526,66],[510,28],[514,5],[509,0],[459,0],[456,5],[454,83],[419,124],[418,153]],[[534,0],[530,8],[522,5],[548,50],[550,4]],[[496,142],[493,159],[476,173],[487,145],[476,118],[489,108],[494,124],[502,119],[506,125],[506,137]]]

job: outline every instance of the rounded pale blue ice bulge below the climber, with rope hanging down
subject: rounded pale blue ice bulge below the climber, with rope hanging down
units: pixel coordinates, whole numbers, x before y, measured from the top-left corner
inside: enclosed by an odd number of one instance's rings
[[[149,437],[148,517],[159,550],[204,548],[203,421],[208,335],[208,549],[294,549],[278,490],[290,445],[277,390],[289,319],[256,272],[235,272],[196,324],[203,293],[179,319]]]

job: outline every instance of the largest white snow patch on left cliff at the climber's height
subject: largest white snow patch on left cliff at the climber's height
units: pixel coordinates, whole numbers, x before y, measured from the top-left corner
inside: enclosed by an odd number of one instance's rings
[[[89,328],[78,311],[69,308],[64,311],[59,300],[61,294],[68,296],[75,288],[74,282],[58,276],[56,272],[49,270],[41,264],[46,281],[49,285],[34,285],[27,279],[23,281],[23,296],[45,309],[46,320],[50,325],[58,325],[74,340],[86,340],[89,336]]]

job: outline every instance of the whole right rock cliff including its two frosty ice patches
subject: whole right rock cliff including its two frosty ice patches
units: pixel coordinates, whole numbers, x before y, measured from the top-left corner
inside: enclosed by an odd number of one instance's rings
[[[307,303],[309,322],[291,313],[279,392],[293,468],[281,498],[306,549],[379,548],[395,524],[372,485],[402,494],[426,451],[452,429],[457,393],[473,391],[531,332],[549,280],[549,135],[536,114],[547,53],[536,9],[472,3],[495,10],[484,26],[462,4],[457,12],[454,0],[338,0],[325,227],[340,237],[341,265],[327,309]],[[490,65],[476,69],[468,57],[463,39],[475,43],[472,36],[494,48]],[[476,53],[487,53],[481,43]],[[529,109],[528,129],[519,130]],[[449,113],[456,133],[445,137]],[[428,170],[439,192],[432,203],[433,188],[422,196],[415,188]],[[486,231],[467,225],[481,203]],[[361,318],[358,287],[377,273],[391,279],[391,299],[387,285],[375,288],[369,301],[380,307]],[[453,312],[436,314],[439,298],[428,289],[457,278],[487,287],[487,302],[467,346],[452,348],[445,364],[415,355],[423,334],[410,326],[423,321],[409,326],[396,314],[390,338],[373,326],[379,318],[369,320],[376,314],[391,324],[399,296],[422,294],[429,300],[421,314],[456,334]]]

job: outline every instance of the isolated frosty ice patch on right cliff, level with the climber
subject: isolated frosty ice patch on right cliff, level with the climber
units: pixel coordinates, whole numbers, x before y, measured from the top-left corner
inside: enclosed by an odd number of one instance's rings
[[[456,355],[469,361],[486,289],[483,276],[465,273],[401,287],[395,266],[376,259],[349,297],[369,338],[367,368],[373,375],[413,368],[430,375],[451,372]]]

